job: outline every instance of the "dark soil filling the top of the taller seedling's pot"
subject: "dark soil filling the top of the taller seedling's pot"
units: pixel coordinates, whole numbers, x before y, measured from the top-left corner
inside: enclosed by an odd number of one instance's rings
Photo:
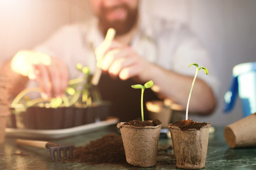
[[[172,123],[172,125],[177,126],[181,130],[188,130],[188,129],[196,129],[200,130],[203,126],[206,126],[208,123],[197,123],[193,120],[180,120],[178,122]]]

